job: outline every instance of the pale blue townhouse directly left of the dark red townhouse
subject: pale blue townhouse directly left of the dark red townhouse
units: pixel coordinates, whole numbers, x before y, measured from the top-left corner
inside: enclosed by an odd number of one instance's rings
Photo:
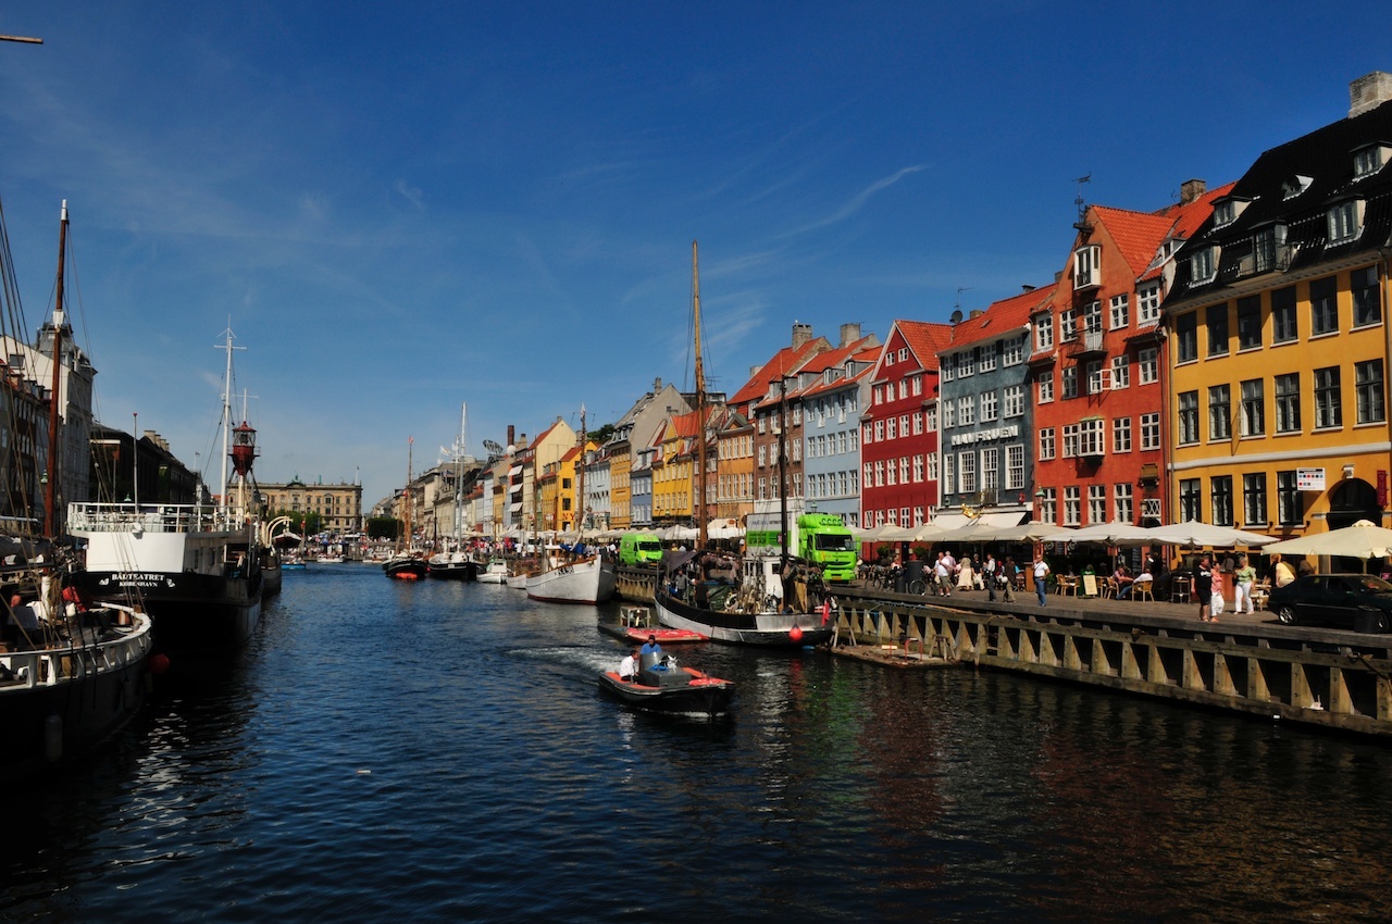
[[[796,374],[789,402],[800,409],[806,512],[860,525],[860,408],[880,338],[842,330],[842,345],[813,356]]]

